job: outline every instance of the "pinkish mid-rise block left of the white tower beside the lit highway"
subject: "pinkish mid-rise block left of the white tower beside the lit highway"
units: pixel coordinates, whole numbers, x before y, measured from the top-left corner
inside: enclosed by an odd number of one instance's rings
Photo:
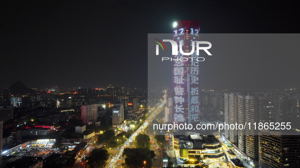
[[[88,124],[89,121],[97,121],[98,105],[82,105],[81,106],[81,118],[82,123]]]

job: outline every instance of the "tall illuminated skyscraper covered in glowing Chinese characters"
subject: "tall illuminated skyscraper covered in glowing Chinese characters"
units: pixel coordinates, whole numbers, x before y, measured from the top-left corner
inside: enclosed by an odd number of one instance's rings
[[[176,41],[182,51],[192,51],[192,41],[199,40],[199,22],[195,20],[177,21],[173,24],[173,40]],[[194,44],[195,45],[195,44]],[[193,123],[199,120],[199,62],[192,61],[197,58],[196,53],[192,55],[173,55],[173,121],[180,123]],[[187,60],[187,61],[180,61]]]

